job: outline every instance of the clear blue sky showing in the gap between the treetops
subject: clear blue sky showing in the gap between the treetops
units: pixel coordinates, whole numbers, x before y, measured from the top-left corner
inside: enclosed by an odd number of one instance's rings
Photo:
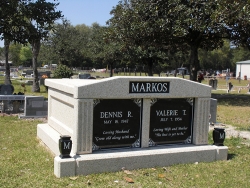
[[[48,0],[54,2],[53,0]],[[57,10],[62,11],[64,18],[72,25],[91,26],[97,22],[102,26],[111,18],[110,11],[120,0],[58,0]],[[3,41],[0,41],[3,47]]]

